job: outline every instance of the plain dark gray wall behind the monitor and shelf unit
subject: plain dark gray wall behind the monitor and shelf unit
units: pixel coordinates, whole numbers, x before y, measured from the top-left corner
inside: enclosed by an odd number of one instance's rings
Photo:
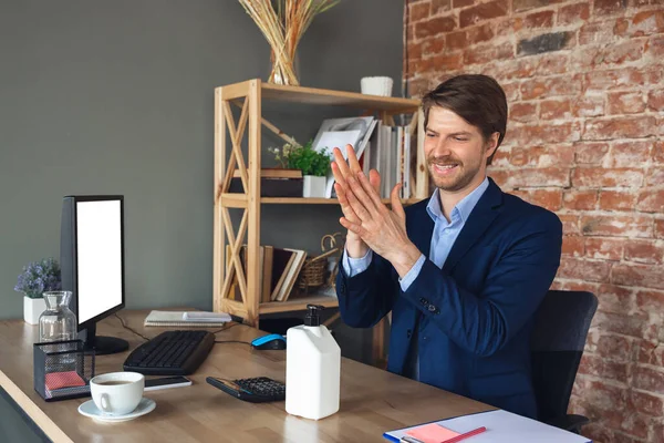
[[[390,75],[398,94],[402,20],[403,1],[342,0],[302,40],[302,84],[357,91],[364,75]],[[58,257],[68,194],[125,196],[128,308],[210,309],[214,87],[269,69],[235,0],[0,1],[0,318],[22,316],[21,267]],[[301,141],[320,119],[356,115],[264,111]],[[263,244],[314,254],[341,229],[334,206],[263,208]]]

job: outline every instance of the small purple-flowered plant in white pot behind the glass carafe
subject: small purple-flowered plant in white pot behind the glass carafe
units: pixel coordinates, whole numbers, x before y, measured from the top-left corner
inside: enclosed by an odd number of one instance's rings
[[[23,292],[23,320],[29,324],[38,324],[39,316],[46,309],[42,293],[61,288],[60,265],[54,258],[44,258],[23,267],[14,287],[15,291]]]

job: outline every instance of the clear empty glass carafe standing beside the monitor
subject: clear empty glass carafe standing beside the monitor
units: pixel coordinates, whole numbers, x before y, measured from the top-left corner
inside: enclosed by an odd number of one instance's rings
[[[39,318],[41,342],[75,340],[76,315],[69,308],[71,291],[46,291],[43,293],[46,310]]]

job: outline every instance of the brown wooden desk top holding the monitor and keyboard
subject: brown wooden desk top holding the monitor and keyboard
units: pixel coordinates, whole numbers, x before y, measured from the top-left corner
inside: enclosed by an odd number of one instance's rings
[[[121,311],[127,326],[146,337],[166,330],[144,328],[143,311]],[[214,330],[214,329],[212,329]],[[97,326],[101,336],[120,337],[136,348],[143,340],[111,317]],[[236,326],[217,340],[250,341],[259,330]],[[46,403],[33,389],[32,343],[37,327],[22,320],[0,321],[0,385],[54,442],[385,442],[383,432],[487,411],[492,408],[380,369],[342,359],[341,409],[309,421],[286,413],[284,403],[239,401],[207,384],[207,375],[286,380],[284,351],[255,351],[242,343],[217,343],[194,385],[146,392],[157,403],[147,415],[124,423],[98,423],[77,412],[89,399]],[[96,373],[121,371],[127,352],[101,356]]]

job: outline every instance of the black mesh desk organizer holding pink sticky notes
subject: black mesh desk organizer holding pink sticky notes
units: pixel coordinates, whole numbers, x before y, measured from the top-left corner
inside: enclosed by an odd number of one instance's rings
[[[34,390],[45,401],[90,396],[94,350],[83,341],[53,341],[33,346]]]

